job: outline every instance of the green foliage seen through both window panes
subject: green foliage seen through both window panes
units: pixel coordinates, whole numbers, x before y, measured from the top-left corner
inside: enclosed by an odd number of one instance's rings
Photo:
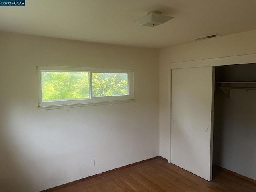
[[[126,73],[92,73],[93,97],[127,95]],[[90,98],[88,72],[42,71],[42,99]]]

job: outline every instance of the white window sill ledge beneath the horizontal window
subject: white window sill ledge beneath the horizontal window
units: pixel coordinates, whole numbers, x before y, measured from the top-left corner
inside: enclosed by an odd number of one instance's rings
[[[106,101],[106,102],[94,102],[94,103],[83,103],[83,104],[66,104],[66,105],[54,105],[54,106],[40,106],[38,110],[50,110],[50,109],[62,109],[62,108],[73,108],[73,107],[86,107],[93,105],[109,105],[118,103],[131,103],[135,102],[135,99],[129,100],[118,100],[118,101]]]

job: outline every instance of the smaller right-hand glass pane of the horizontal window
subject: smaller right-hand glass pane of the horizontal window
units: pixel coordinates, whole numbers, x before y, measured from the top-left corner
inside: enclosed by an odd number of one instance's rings
[[[127,73],[92,73],[92,96],[128,95]]]

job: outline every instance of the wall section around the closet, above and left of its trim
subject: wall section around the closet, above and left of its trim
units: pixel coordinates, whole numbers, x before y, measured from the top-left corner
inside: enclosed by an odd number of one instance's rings
[[[170,158],[170,63],[256,53],[256,30],[160,50],[160,156]]]

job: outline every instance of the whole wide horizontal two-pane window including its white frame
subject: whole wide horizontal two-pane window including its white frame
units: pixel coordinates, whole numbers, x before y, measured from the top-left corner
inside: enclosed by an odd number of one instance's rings
[[[133,70],[37,67],[38,108],[81,106],[134,99]]]

